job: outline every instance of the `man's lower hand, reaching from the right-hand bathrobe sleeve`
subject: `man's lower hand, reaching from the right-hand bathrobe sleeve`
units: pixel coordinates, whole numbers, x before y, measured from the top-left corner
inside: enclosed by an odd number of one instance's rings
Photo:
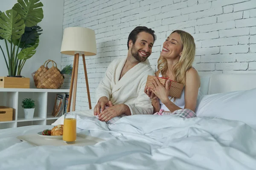
[[[111,106],[105,109],[105,111],[102,111],[100,114],[98,114],[99,120],[107,122],[113,117],[120,116],[122,113],[124,113],[124,111],[125,111],[124,104]]]

